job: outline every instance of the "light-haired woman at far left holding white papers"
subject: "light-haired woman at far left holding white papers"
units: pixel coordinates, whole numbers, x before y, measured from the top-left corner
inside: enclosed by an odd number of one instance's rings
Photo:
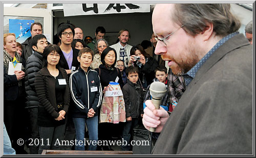
[[[10,79],[4,81],[4,122],[16,154],[26,154],[24,145],[17,144],[17,140],[23,138],[25,132],[25,61],[16,51],[16,36],[13,33],[4,34],[3,56],[4,77]],[[15,63],[9,65],[14,59],[17,63],[22,63],[21,70],[9,69],[9,66],[14,67]]]

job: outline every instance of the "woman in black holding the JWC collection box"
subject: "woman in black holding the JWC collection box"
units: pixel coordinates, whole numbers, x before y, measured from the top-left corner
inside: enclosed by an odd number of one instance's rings
[[[103,89],[103,93],[108,87],[110,82],[119,83],[120,87],[123,87],[123,80],[121,72],[115,67],[117,55],[116,50],[111,47],[107,47],[102,51],[101,54],[101,65],[99,68],[95,69],[100,77],[100,84]],[[100,108],[99,108],[100,109]],[[100,116],[100,114],[98,115]],[[111,140],[114,135],[121,134],[122,126],[120,123],[100,123],[98,125],[98,138],[99,140]],[[118,134],[119,133],[119,134]],[[102,150],[112,150],[110,146],[102,146]]]

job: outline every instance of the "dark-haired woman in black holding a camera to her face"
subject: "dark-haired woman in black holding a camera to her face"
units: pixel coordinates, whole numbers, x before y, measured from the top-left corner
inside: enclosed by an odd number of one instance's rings
[[[157,61],[150,57],[139,44],[132,47],[130,55],[131,58],[128,66],[138,66],[139,81],[142,84],[143,89],[146,89],[148,85],[153,83],[155,78],[155,69],[158,66]]]

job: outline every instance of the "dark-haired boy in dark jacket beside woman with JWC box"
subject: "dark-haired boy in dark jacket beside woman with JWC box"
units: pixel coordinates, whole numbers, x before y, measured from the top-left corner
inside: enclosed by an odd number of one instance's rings
[[[122,150],[132,150],[131,139],[133,128],[138,124],[139,117],[142,117],[142,87],[138,83],[139,70],[137,67],[129,66],[126,69],[127,83],[123,86],[123,99],[125,103],[126,122],[123,127],[123,140],[126,145],[122,145]]]

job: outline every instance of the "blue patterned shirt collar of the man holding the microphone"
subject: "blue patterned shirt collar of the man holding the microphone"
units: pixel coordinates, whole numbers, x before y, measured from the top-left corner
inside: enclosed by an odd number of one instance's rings
[[[223,44],[225,43],[227,40],[229,40],[231,37],[235,36],[239,34],[239,32],[234,32],[234,33],[231,33],[225,37],[223,37],[217,44],[215,44],[214,47],[212,47],[208,52],[207,54],[193,67],[191,68],[187,73],[184,74],[184,77],[185,77],[185,80],[186,80],[186,76],[190,76],[190,77],[195,77],[196,76],[196,73],[197,71],[200,69],[200,67],[210,58],[210,56],[212,54],[214,54],[214,52]],[[190,82],[189,82],[190,83]],[[188,83],[188,84],[189,84]],[[187,85],[188,86],[188,85]]]

